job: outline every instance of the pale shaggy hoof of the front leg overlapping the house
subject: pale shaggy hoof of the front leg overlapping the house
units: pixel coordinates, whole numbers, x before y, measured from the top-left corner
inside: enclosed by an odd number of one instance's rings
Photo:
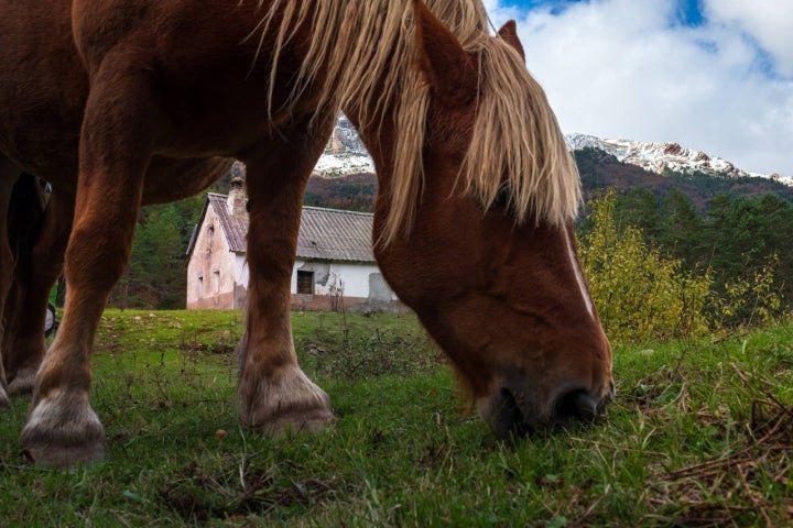
[[[336,421],[327,394],[298,367],[279,380],[243,375],[240,398],[242,425],[269,436],[286,431],[318,431]]]

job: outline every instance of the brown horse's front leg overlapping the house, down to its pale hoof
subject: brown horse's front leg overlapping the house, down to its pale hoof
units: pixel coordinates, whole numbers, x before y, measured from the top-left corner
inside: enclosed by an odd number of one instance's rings
[[[303,193],[332,127],[328,117],[313,132],[246,160],[250,284],[239,397],[242,424],[269,435],[321,429],[334,420],[327,395],[297,364],[290,321]]]

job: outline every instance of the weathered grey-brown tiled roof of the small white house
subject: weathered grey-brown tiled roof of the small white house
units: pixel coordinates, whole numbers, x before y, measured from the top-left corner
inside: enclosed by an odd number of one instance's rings
[[[225,195],[209,193],[198,226],[204,223],[206,211],[211,207],[218,217],[229,250],[245,253],[248,217],[230,215],[226,198]],[[371,248],[372,220],[373,215],[368,212],[303,207],[296,256],[324,261],[374,262]],[[187,248],[188,257],[195,246],[198,226]]]

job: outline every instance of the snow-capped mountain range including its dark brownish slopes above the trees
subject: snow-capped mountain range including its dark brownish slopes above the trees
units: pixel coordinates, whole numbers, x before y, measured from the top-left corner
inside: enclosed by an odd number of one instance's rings
[[[620,193],[643,187],[659,198],[673,188],[681,190],[700,212],[719,193],[773,193],[793,204],[793,177],[750,173],[677,143],[604,140],[585,134],[568,134],[565,141],[578,165],[586,198],[609,187]],[[308,182],[306,204],[372,210],[376,194],[374,164],[352,124],[341,116]]]

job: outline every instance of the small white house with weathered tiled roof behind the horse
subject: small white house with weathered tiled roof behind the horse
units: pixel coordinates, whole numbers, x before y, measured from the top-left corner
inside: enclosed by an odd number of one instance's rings
[[[187,249],[187,309],[242,308],[248,296],[245,183],[210,193]],[[304,207],[292,308],[404,311],[374,262],[370,213]]]

